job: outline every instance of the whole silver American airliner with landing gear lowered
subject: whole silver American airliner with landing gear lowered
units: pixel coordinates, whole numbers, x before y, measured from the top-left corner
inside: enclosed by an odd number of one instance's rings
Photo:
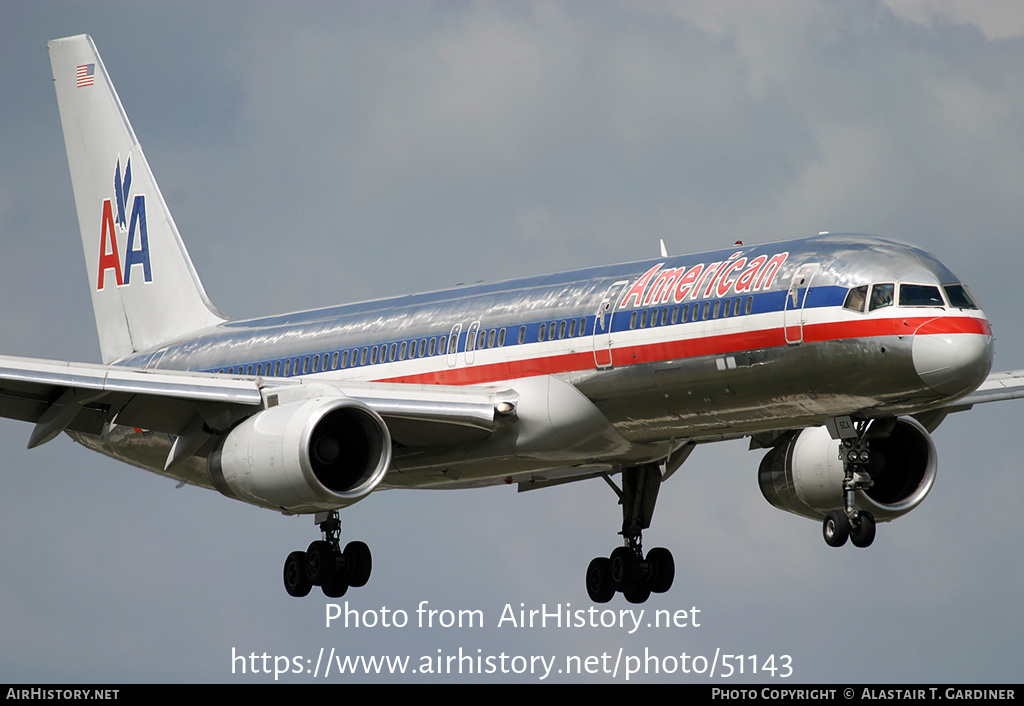
[[[339,510],[375,490],[602,479],[622,541],[595,603],[668,591],[644,551],[660,485],[749,439],[775,507],[866,547],[936,477],[952,412],[1024,397],[933,255],[860,235],[660,256],[232,320],[206,294],[90,37],[48,43],[102,364],[0,357],[0,416],[285,514],[321,538],[286,591],[365,586]],[[618,476],[618,482],[614,476]]]

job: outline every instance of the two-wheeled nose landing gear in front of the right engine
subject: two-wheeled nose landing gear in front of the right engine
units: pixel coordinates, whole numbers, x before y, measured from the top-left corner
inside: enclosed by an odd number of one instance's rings
[[[856,435],[843,439],[839,448],[844,474],[843,509],[829,510],[821,523],[821,535],[828,546],[843,546],[849,539],[856,547],[866,547],[874,541],[874,515],[856,509],[854,499],[858,490],[874,485],[869,470],[870,440],[888,437],[892,424],[869,419],[856,422],[855,428]]]

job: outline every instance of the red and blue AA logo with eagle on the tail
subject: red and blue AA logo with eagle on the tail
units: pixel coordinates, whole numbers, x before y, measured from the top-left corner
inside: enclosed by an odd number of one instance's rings
[[[96,291],[106,285],[106,271],[113,269],[117,286],[131,284],[132,266],[142,265],[142,277],[153,282],[150,268],[150,237],[145,225],[145,195],[136,194],[128,211],[131,190],[131,157],[125,162],[125,175],[121,177],[121,158],[114,167],[114,199],[103,200],[102,225],[99,235],[99,275]],[[114,218],[114,203],[117,202],[117,224]],[[118,236],[121,236],[120,239]],[[125,243],[124,267],[121,266],[121,242]]]

